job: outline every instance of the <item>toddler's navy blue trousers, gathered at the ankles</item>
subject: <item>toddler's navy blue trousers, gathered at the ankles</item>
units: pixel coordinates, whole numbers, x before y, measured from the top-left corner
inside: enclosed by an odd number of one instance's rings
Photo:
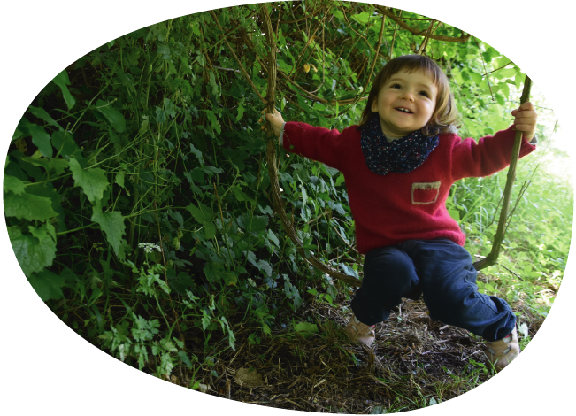
[[[488,341],[502,339],[516,326],[505,300],[478,292],[472,257],[448,239],[409,240],[366,254],[362,287],[352,299],[360,322],[388,320],[403,297],[424,302],[430,318],[462,327]]]

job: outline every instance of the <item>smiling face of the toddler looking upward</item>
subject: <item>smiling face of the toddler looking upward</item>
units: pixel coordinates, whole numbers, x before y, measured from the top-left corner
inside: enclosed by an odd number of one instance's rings
[[[380,115],[382,132],[388,137],[403,137],[426,126],[436,108],[438,88],[424,72],[395,73],[382,86],[372,103]]]

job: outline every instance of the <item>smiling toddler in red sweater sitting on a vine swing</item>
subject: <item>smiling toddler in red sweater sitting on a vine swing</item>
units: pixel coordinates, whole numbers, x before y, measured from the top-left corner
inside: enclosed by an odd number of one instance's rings
[[[518,357],[516,316],[505,300],[478,291],[465,235],[445,206],[455,181],[509,165],[515,130],[523,132],[520,157],[535,149],[534,106],[522,104],[512,116],[511,127],[478,143],[461,139],[448,78],[420,55],[390,60],[373,82],[360,123],[342,133],[265,113],[284,149],[344,174],[357,250],[365,254],[346,327],[352,339],[372,345],[375,325],[403,297],[423,295],[433,320],[486,340],[497,371]]]

